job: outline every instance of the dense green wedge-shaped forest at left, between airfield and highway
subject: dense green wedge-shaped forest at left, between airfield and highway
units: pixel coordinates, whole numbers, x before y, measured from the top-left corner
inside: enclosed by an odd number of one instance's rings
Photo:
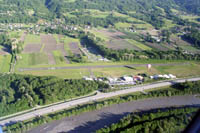
[[[0,116],[108,88],[102,82],[0,74]]]

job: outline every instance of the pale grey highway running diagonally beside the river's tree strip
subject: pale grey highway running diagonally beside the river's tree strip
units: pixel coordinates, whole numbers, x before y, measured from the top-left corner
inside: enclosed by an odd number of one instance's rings
[[[199,78],[187,79],[187,81],[198,81],[198,80],[200,80],[200,77]],[[94,100],[109,98],[109,97],[113,97],[113,96],[117,96],[117,95],[137,92],[137,91],[148,90],[148,89],[152,89],[152,88],[169,86],[169,85],[173,85],[173,84],[185,82],[185,81],[186,81],[186,79],[178,79],[178,80],[174,80],[174,81],[164,81],[164,82],[148,84],[148,85],[144,85],[144,86],[136,86],[136,87],[133,87],[133,88],[130,88],[130,89],[119,90],[119,91],[116,91],[116,92],[98,93],[97,95],[94,95],[94,96],[91,96],[91,97],[81,98],[81,99],[77,99],[77,100],[74,100],[74,101],[53,105],[53,106],[50,106],[50,107],[35,110],[33,112],[29,112],[29,113],[25,113],[25,114],[22,114],[22,115],[19,115],[19,116],[8,118],[6,120],[0,121],[0,125],[6,125],[6,124],[17,122],[17,121],[27,120],[27,119],[33,118],[35,116],[38,116],[38,115],[44,115],[44,114],[52,113],[52,112],[55,112],[55,111],[58,111],[58,110],[66,109],[66,108],[69,108],[71,106],[76,106],[76,105],[79,105],[79,104],[88,103],[88,102],[94,101]]]

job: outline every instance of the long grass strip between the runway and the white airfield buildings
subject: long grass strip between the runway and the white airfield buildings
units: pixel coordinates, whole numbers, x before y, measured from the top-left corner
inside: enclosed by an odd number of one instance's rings
[[[158,62],[157,62],[158,63]],[[175,63],[175,62],[174,62]],[[181,62],[179,62],[181,63]],[[105,63],[109,64],[109,63]],[[104,65],[105,65],[104,64]],[[110,64],[128,64],[124,63],[110,63]],[[70,64],[73,66],[76,64]],[[84,64],[85,66],[91,64]],[[99,65],[96,63],[95,65]],[[101,64],[102,65],[102,64]],[[65,65],[66,66],[66,65]],[[78,65],[77,65],[78,66]],[[111,76],[111,77],[120,77],[123,75],[137,75],[138,73],[146,73],[148,75],[155,75],[155,74],[174,74],[177,77],[188,77],[188,76],[199,76],[200,75],[200,63],[190,62],[190,64],[185,65],[176,65],[176,66],[153,66],[152,69],[149,71],[147,70],[146,66],[143,67],[134,67],[132,69],[127,67],[118,67],[118,68],[96,68],[91,69],[92,73],[97,77],[102,76]],[[33,74],[33,75],[53,75],[58,76],[60,78],[82,78],[83,76],[89,76],[90,70],[88,69],[65,69],[65,70],[43,70],[43,71],[25,71],[25,72],[18,72],[21,74]]]

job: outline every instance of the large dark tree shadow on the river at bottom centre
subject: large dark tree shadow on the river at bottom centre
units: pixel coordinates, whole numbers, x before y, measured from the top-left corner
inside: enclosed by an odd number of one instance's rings
[[[71,131],[59,132],[59,133],[93,133],[100,128],[118,122],[121,118],[123,118],[128,114],[129,114],[128,112],[125,112],[123,114],[102,113],[99,115],[100,116],[99,120],[89,121],[79,127],[74,128]]]

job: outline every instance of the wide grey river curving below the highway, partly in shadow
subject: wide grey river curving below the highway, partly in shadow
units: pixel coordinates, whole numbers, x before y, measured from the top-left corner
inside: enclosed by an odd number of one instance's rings
[[[200,108],[200,98],[188,95],[131,101],[53,121],[28,133],[92,133],[134,111],[188,105]]]

